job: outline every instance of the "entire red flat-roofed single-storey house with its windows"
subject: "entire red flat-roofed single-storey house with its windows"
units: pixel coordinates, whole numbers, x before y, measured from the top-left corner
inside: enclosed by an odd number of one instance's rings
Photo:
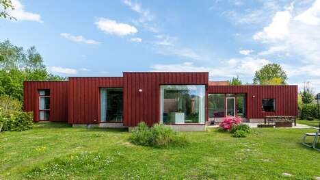
[[[241,116],[297,116],[297,86],[229,86],[209,73],[137,73],[123,77],[69,77],[25,81],[24,110],[34,121],[73,126],[135,127],[161,123],[177,131],[204,131],[211,120]]]

